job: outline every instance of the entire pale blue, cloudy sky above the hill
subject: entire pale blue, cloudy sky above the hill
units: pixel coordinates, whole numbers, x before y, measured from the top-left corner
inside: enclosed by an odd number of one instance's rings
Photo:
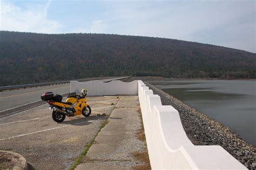
[[[161,37],[256,52],[256,0],[0,1],[0,30]]]

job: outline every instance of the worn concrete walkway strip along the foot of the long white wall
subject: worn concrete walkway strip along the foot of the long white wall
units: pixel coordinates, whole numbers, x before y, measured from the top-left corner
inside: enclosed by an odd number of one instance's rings
[[[76,169],[132,169],[145,164],[134,157],[146,152],[137,138],[142,125],[139,112],[138,96],[123,96]]]

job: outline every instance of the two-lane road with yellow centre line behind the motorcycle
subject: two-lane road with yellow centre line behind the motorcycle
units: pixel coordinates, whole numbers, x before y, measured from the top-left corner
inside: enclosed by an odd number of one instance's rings
[[[95,79],[95,78],[94,78]],[[100,79],[99,81],[111,81],[119,78]],[[42,87],[32,87],[29,89],[19,89],[12,91],[0,92],[0,112],[31,103],[33,101],[41,100],[41,95],[44,92],[53,92],[55,94],[63,94],[70,92],[70,84],[60,84]]]

